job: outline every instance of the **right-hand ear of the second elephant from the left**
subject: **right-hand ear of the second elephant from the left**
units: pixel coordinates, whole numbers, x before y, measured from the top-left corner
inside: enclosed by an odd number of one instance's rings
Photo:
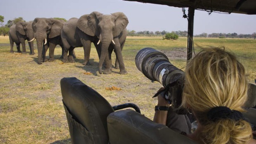
[[[63,22],[57,19],[49,19],[49,24],[52,26],[49,38],[55,38],[60,35],[60,31],[62,30]]]

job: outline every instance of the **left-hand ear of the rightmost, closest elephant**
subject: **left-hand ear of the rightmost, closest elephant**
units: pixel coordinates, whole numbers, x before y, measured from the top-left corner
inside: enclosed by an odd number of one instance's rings
[[[84,33],[90,36],[99,36],[100,31],[98,28],[98,18],[102,13],[92,12],[90,14],[85,14],[78,19],[77,27]]]

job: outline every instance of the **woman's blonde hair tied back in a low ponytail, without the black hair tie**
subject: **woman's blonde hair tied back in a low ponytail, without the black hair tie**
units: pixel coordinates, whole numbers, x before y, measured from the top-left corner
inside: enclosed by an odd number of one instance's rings
[[[200,139],[206,144],[246,144],[252,139],[251,125],[245,120],[207,118],[213,107],[226,106],[244,111],[247,77],[236,57],[221,48],[202,48],[188,62],[182,106],[193,111],[204,130]]]

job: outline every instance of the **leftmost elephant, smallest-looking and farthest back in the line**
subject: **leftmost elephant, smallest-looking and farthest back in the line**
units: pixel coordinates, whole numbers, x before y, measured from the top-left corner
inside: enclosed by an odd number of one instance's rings
[[[32,22],[18,22],[10,27],[9,30],[9,40],[10,40],[10,52],[13,53],[13,44],[15,42],[17,46],[17,51],[21,52],[20,44],[22,46],[22,53],[26,53],[25,40],[32,40],[34,37],[34,32],[32,28]],[[34,43],[28,42],[30,54],[34,53]]]

